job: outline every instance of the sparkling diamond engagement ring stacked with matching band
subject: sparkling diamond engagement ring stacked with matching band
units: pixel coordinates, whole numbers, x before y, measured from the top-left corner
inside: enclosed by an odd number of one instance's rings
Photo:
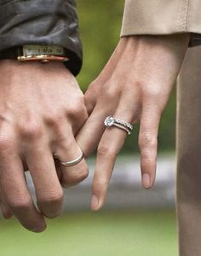
[[[112,116],[106,117],[106,119],[104,121],[104,125],[106,125],[106,127],[116,126],[119,129],[126,131],[128,133],[128,135],[131,133],[131,131],[134,128],[133,125],[130,125],[128,122],[123,121],[123,119],[116,119]]]

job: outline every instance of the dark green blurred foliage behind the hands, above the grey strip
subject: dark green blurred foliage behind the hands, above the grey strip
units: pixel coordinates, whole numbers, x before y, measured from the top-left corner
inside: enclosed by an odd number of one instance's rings
[[[123,1],[77,0],[80,33],[83,41],[83,69],[78,82],[85,91],[100,73],[118,44],[123,17]],[[138,151],[139,125],[128,137],[123,152]],[[158,134],[159,150],[175,148],[175,90],[164,110]]]

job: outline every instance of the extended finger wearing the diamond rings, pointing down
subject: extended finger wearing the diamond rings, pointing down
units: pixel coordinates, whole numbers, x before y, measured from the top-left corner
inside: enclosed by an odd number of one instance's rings
[[[122,113],[117,110],[114,117],[132,122],[133,117],[128,113]],[[101,137],[97,157],[95,162],[95,175],[92,185],[92,210],[98,210],[103,206],[106,200],[106,193],[112,176],[112,170],[117,158],[118,152],[123,148],[123,143],[128,136],[127,131],[119,127],[112,126],[106,128]]]

